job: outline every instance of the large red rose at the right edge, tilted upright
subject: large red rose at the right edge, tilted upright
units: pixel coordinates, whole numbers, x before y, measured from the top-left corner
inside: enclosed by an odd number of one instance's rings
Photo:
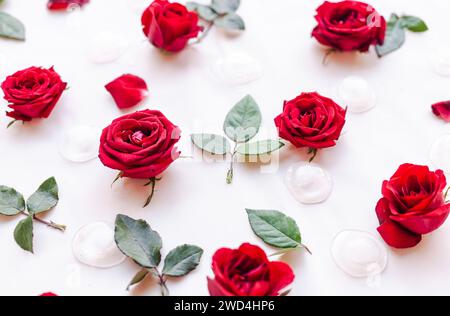
[[[416,246],[422,235],[438,229],[448,217],[444,172],[431,172],[426,166],[404,164],[383,183],[383,198],[376,212],[378,231],[394,248]]]

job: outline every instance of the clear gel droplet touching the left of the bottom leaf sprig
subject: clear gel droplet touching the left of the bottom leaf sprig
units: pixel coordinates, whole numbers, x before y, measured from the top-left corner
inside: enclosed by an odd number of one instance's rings
[[[111,268],[125,260],[114,241],[114,229],[104,222],[83,226],[73,239],[72,251],[78,261],[94,268]]]

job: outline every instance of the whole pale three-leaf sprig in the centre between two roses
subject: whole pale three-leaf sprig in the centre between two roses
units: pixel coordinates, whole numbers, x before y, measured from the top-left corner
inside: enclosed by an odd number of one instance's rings
[[[231,155],[230,168],[226,178],[227,183],[231,184],[237,154],[243,156],[266,155],[284,146],[284,143],[280,140],[262,140],[249,143],[258,134],[261,121],[261,111],[258,104],[250,95],[247,95],[231,109],[223,124],[225,135],[235,143],[233,150],[231,150],[229,141],[221,135],[192,134],[191,140],[196,147],[212,155]]]

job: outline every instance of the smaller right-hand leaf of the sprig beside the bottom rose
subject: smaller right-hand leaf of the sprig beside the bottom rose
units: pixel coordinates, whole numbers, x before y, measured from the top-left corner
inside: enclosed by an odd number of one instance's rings
[[[202,255],[203,249],[197,246],[179,246],[167,255],[162,273],[172,277],[184,276],[199,265]]]

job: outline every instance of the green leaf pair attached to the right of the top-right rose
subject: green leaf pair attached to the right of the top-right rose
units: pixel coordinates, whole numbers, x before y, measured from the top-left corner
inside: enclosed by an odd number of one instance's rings
[[[387,25],[384,44],[375,47],[378,57],[386,56],[402,47],[406,40],[405,30],[422,33],[428,31],[428,26],[418,17],[392,14]]]

